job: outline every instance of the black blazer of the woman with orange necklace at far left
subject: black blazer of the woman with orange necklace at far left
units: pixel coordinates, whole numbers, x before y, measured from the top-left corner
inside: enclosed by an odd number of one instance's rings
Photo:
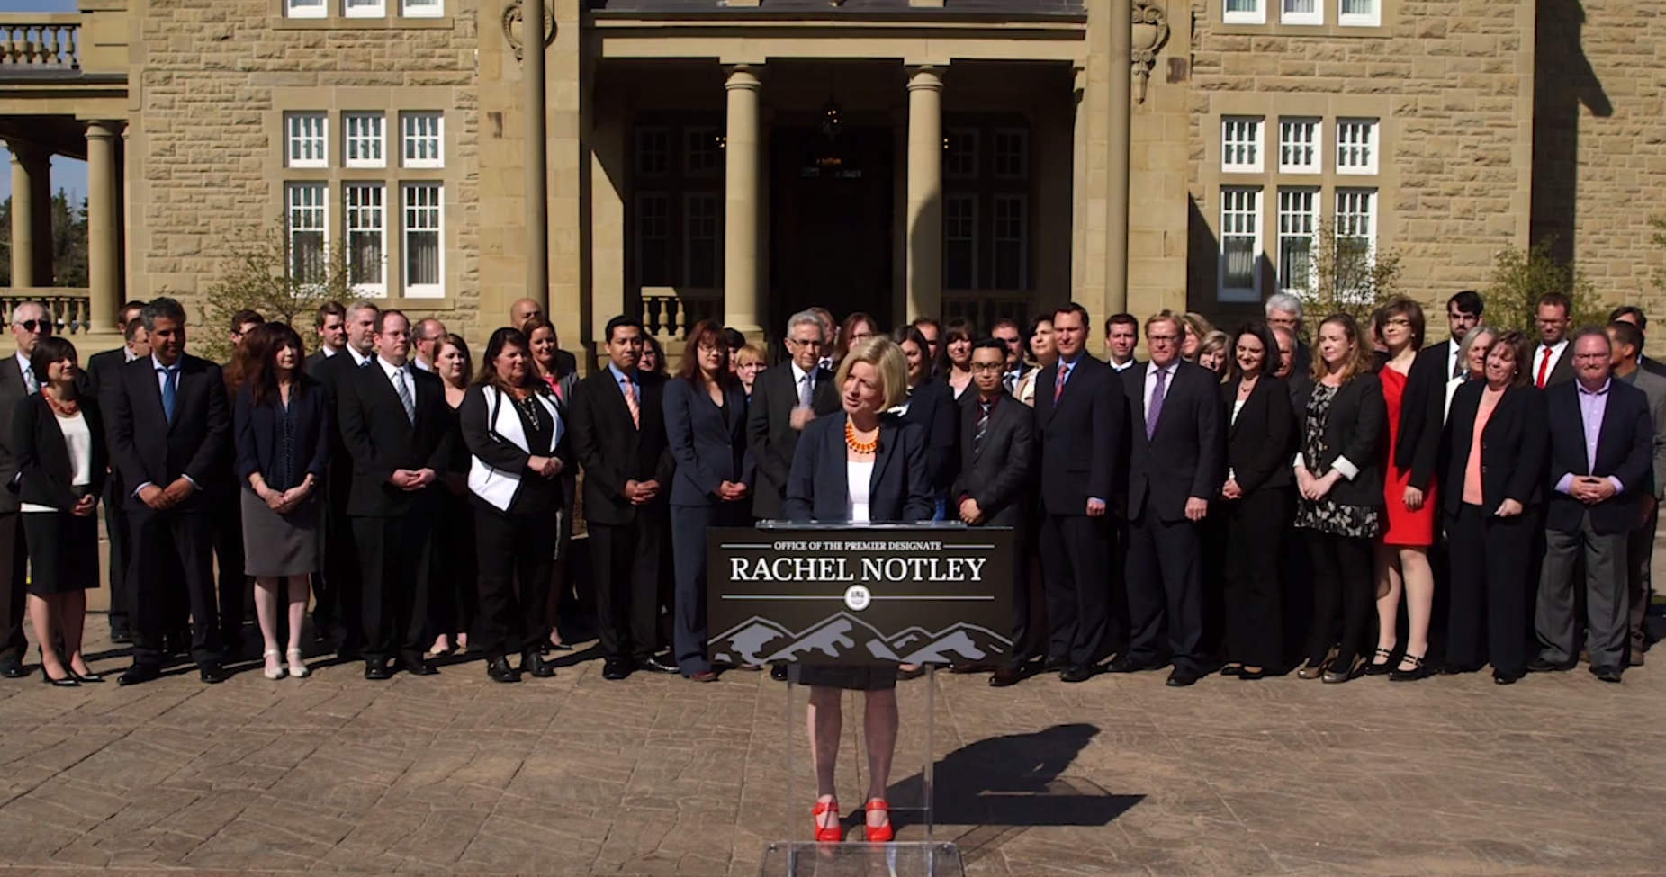
[[[103,493],[105,471],[110,466],[110,444],[105,439],[98,399],[82,394],[80,408],[87,431],[92,433],[90,493],[98,496]],[[8,483],[12,491],[7,493],[13,493],[18,503],[58,511],[75,508],[77,496],[70,488],[70,479],[75,478],[70,448],[43,394],[25,396],[12,409],[12,449],[17,453],[17,479]]]

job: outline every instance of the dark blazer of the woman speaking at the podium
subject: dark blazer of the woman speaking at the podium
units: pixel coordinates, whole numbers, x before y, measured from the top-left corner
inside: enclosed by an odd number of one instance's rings
[[[845,418],[818,418],[805,426],[786,479],[788,521],[850,521],[850,479],[845,468]],[[868,521],[930,521],[935,511],[926,479],[925,436],[920,426],[895,414],[880,418],[880,448],[868,481]]]

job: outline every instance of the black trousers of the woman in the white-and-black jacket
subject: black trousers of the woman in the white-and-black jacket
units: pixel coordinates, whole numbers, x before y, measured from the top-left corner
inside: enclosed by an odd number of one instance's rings
[[[480,617],[470,646],[498,659],[536,651],[550,636],[545,609],[555,576],[556,509],[505,514],[475,506],[475,546],[480,564]],[[520,576],[520,594],[515,577]]]

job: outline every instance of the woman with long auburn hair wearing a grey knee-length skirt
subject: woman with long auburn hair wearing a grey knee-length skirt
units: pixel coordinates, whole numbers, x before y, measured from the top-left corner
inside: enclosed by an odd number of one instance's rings
[[[318,491],[330,464],[323,388],[305,374],[302,338],[287,323],[248,334],[242,386],[232,408],[243,511],[243,571],[255,577],[255,614],[267,679],[307,676],[302,619],[320,569]],[[278,661],[278,594],[287,582],[290,642]]]

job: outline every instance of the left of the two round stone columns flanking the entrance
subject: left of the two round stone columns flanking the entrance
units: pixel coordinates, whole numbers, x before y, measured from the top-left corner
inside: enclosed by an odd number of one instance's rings
[[[748,339],[763,339],[765,303],[758,283],[758,193],[763,173],[758,95],[751,65],[730,68],[728,131],[723,148],[723,323]]]

